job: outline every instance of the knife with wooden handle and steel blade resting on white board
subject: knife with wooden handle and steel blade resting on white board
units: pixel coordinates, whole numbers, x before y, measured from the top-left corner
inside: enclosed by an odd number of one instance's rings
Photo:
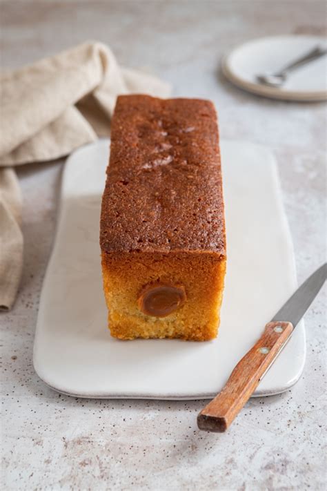
[[[224,389],[197,416],[200,430],[217,433],[227,430],[286,345],[326,278],[327,263],[325,262],[266,324],[261,338],[237,363]]]

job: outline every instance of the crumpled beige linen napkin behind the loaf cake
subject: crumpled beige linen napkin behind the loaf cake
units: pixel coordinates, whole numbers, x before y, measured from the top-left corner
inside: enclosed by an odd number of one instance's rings
[[[1,77],[0,309],[10,309],[19,287],[23,236],[21,195],[10,166],[68,155],[108,135],[119,94],[168,97],[152,75],[121,68],[108,46],[88,42]]]

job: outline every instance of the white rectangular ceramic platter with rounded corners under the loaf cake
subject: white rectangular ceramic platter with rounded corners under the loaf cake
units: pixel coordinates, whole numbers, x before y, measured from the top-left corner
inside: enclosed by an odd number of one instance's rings
[[[63,173],[57,237],[43,283],[34,367],[50,387],[95,398],[210,398],[297,286],[290,232],[270,151],[223,142],[228,272],[217,340],[121,341],[103,299],[99,213],[108,140],[85,146]],[[295,330],[255,395],[291,387],[304,367]]]

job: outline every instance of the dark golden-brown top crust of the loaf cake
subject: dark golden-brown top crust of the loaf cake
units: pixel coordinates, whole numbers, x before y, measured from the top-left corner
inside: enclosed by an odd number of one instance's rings
[[[100,244],[103,253],[226,255],[219,136],[212,102],[118,97]]]

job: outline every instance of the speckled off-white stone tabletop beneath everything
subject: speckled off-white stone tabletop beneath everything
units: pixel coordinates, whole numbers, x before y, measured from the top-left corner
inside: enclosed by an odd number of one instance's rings
[[[221,137],[275,151],[301,281],[324,261],[326,250],[326,105],[249,95],[228,84],[218,67],[226,50],[252,37],[323,32],[325,5],[2,1],[2,64],[19,66],[99,39],[122,64],[148,66],[171,81],[174,95],[213,99]],[[32,344],[61,169],[62,162],[52,162],[19,170],[25,265],[14,309],[0,314],[2,488],[325,490],[326,287],[306,315],[308,357],[299,383],[279,396],[250,400],[227,434],[197,430],[204,401],[82,400],[61,396],[39,380]]]

